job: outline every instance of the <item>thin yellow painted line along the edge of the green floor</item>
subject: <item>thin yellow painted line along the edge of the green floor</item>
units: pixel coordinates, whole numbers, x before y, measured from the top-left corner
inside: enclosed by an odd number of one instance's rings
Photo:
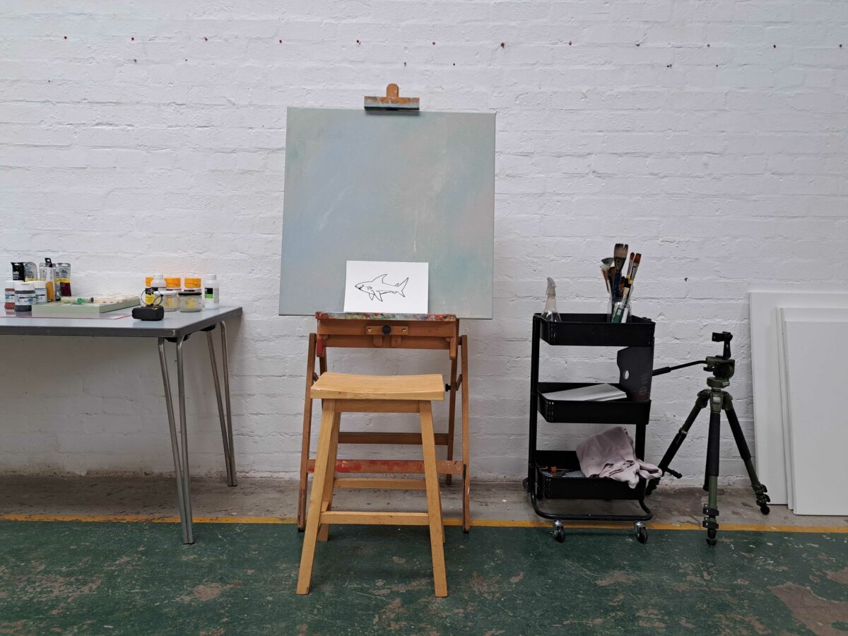
[[[257,523],[292,525],[297,520],[293,516],[195,516],[195,523]],[[162,515],[42,515],[42,514],[0,514],[0,521],[7,522],[121,522],[121,523],[179,523],[178,516]],[[444,520],[446,526],[460,526],[462,520],[449,517]],[[630,522],[564,522],[566,528],[578,529],[625,529]],[[646,522],[654,530],[702,530],[699,523],[661,523]],[[477,519],[471,521],[473,527],[550,527],[551,522],[542,520]],[[721,530],[739,530],[759,533],[819,533],[848,534],[848,524],[842,526],[801,526],[771,525],[759,523],[722,523]]]

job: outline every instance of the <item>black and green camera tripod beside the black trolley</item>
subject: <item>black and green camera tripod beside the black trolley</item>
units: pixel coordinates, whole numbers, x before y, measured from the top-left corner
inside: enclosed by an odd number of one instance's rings
[[[689,428],[695,423],[695,419],[698,417],[700,411],[706,408],[707,404],[710,404],[710,430],[706,442],[706,475],[704,477],[704,490],[709,495],[707,503],[704,506],[704,521],[701,523],[703,527],[706,527],[706,543],[710,545],[716,544],[716,533],[718,530],[718,522],[716,521],[716,517],[718,516],[718,443],[721,434],[722,410],[728,418],[728,424],[730,424],[730,430],[734,434],[739,455],[741,455],[742,460],[745,462],[745,469],[748,471],[750,485],[756,495],[756,505],[760,506],[762,514],[767,515],[769,512],[768,502],[770,499],[766,494],[766,487],[756,477],[754,462],[750,459],[750,450],[748,449],[747,442],[745,442],[745,435],[742,433],[742,427],[739,426],[739,418],[736,416],[736,411],[734,410],[733,398],[730,393],[724,390],[724,388],[730,386],[730,378],[733,377],[736,368],[736,361],[730,357],[730,341],[732,339],[733,334],[730,332],[713,333],[713,342],[724,343],[722,355],[707,356],[706,360],[695,360],[694,362],[687,362],[683,365],[666,366],[656,369],[653,372],[653,375],[659,376],[663,373],[682,369],[685,366],[706,364],[704,371],[710,371],[713,374],[706,379],[706,385],[709,388],[705,388],[698,393],[698,397],[695,399],[695,406],[692,407],[689,416],[683,422],[683,426],[680,427],[678,434],[674,436],[672,444],[668,447],[666,455],[663,455],[659,464],[659,468],[663,474],[668,473],[678,479],[682,477],[679,472],[672,471],[668,465],[672,463],[674,455],[677,454],[678,449],[683,444],[683,440],[686,439]],[[651,486],[656,487],[658,481],[652,482]],[[653,490],[653,488],[650,488],[650,490]]]

